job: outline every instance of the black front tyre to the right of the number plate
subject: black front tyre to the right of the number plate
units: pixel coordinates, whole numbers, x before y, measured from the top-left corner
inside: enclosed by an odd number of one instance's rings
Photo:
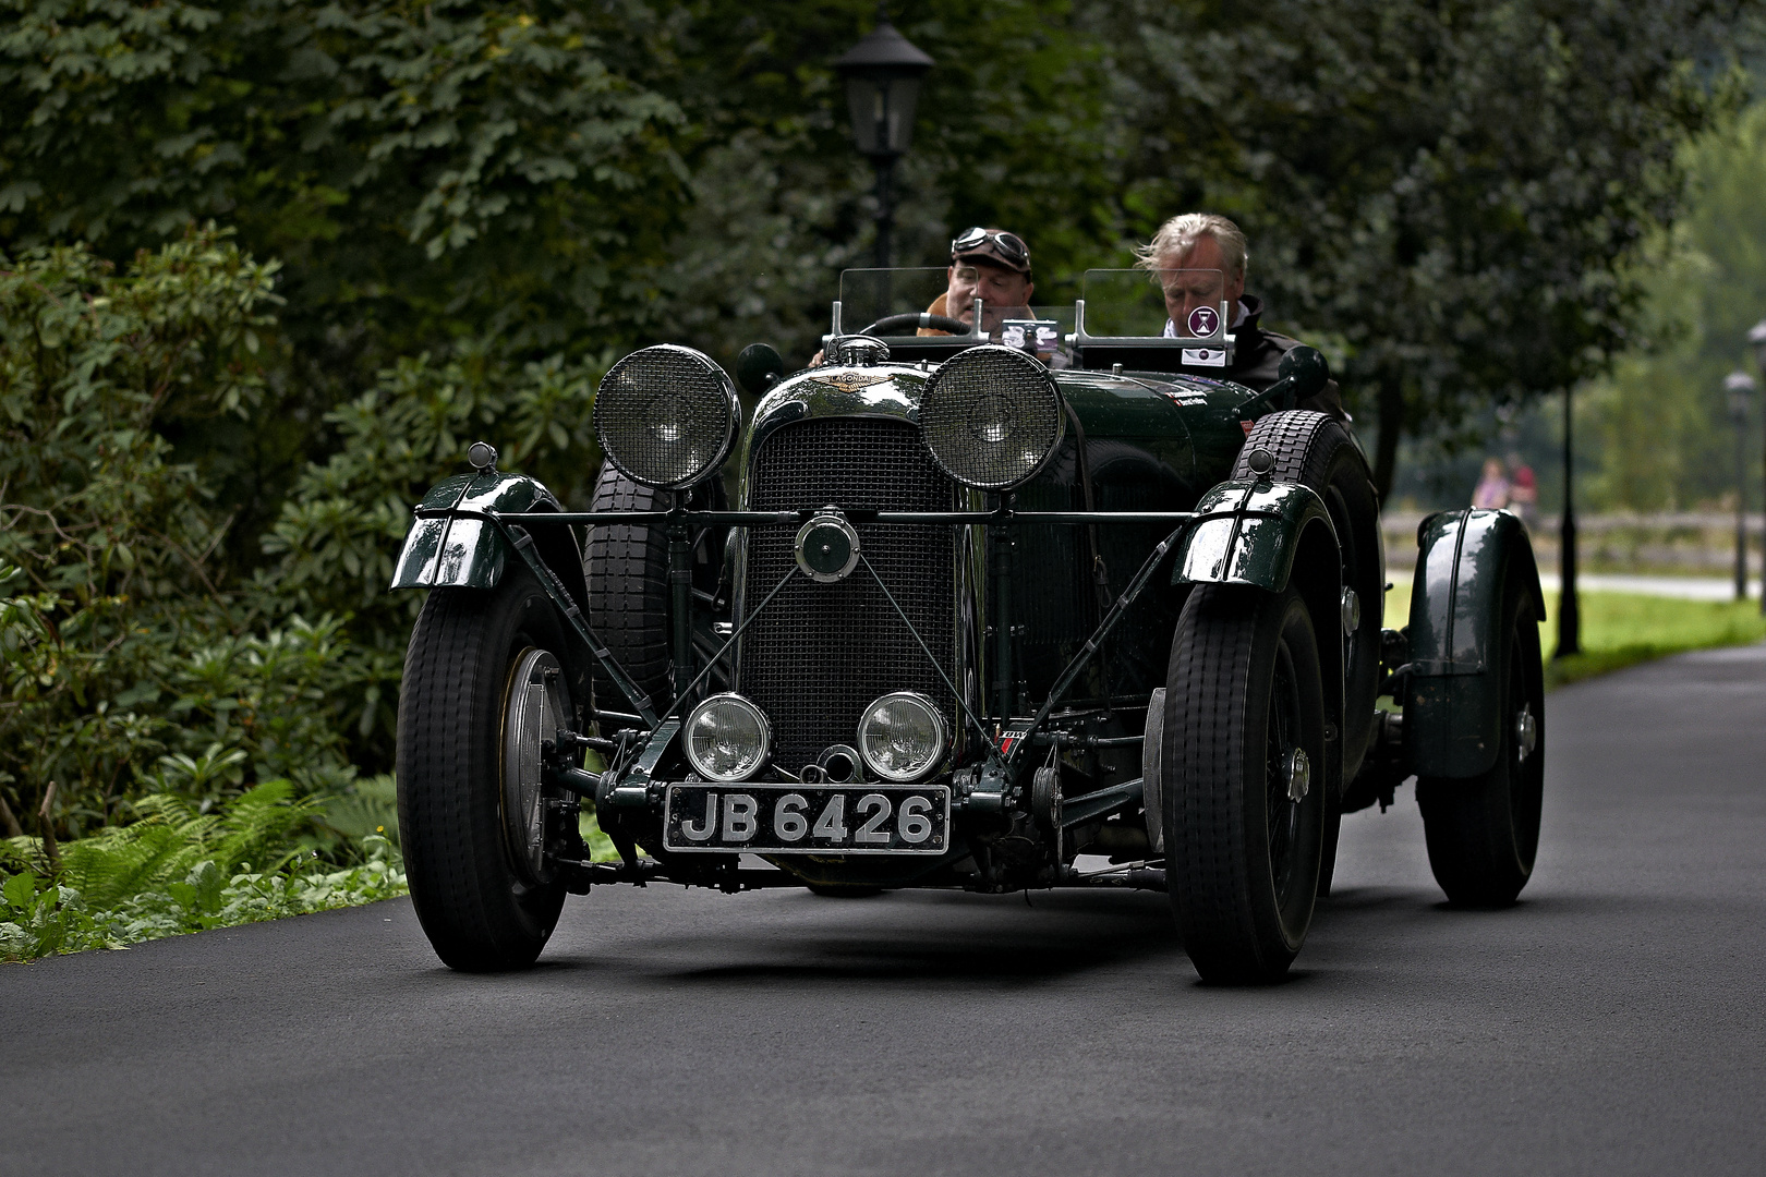
[[[1305,787],[1289,771],[1294,750],[1309,761]],[[1196,971],[1227,985],[1279,979],[1312,923],[1324,838],[1324,683],[1296,588],[1190,593],[1171,646],[1160,776],[1171,907]]]

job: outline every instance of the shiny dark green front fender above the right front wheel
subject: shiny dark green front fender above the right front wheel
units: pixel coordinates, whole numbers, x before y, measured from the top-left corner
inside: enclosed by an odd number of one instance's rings
[[[1178,547],[1173,584],[1254,584],[1280,593],[1312,528],[1337,551],[1324,499],[1298,482],[1222,482],[1201,498],[1196,515]]]

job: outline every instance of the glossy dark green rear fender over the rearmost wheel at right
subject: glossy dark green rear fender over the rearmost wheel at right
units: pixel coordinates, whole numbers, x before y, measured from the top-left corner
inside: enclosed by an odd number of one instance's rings
[[[1420,776],[1478,776],[1501,746],[1498,642],[1517,561],[1535,614],[1545,616],[1533,544],[1508,512],[1468,508],[1423,519],[1416,545],[1404,755]]]

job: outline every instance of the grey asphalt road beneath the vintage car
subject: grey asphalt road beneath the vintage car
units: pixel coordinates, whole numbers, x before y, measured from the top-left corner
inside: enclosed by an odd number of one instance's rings
[[[1549,702],[1538,872],[1441,907],[1409,789],[1291,981],[1164,896],[565,907],[440,969],[406,902],[0,969],[12,1173],[1759,1173],[1766,646]]]

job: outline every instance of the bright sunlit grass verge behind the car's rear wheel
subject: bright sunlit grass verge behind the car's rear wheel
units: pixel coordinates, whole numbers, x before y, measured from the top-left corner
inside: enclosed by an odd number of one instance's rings
[[[1639,593],[1581,593],[1582,653],[1552,658],[1558,646],[1558,593],[1545,593],[1540,646],[1545,649],[1545,688],[1639,662],[1713,646],[1745,646],[1766,639],[1766,618],[1757,602],[1704,602]],[[1402,628],[1411,609],[1409,582],[1386,593],[1386,626]]]

